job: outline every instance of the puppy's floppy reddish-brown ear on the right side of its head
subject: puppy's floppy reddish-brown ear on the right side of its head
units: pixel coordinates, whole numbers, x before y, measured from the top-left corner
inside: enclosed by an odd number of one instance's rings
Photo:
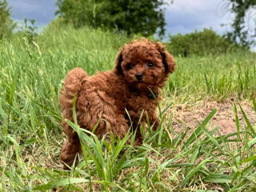
[[[173,73],[176,68],[173,56],[166,51],[161,42],[155,42],[155,45],[161,54],[162,64],[165,66],[166,73]]]

